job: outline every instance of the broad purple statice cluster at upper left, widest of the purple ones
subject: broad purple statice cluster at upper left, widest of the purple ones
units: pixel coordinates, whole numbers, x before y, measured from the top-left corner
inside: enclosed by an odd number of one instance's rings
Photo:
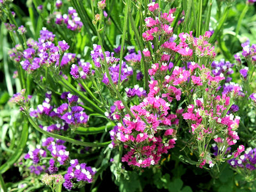
[[[16,45],[10,52],[10,58],[16,62],[19,62],[22,68],[29,73],[38,69],[41,66],[59,66],[60,54],[63,52],[63,58],[60,62],[60,66],[67,65],[70,61],[74,61],[75,54],[66,53],[69,49],[69,45],[65,41],[58,42],[58,45],[54,44],[55,35],[43,27],[40,31],[40,37],[38,41],[28,39],[26,50],[21,50],[20,45]]]

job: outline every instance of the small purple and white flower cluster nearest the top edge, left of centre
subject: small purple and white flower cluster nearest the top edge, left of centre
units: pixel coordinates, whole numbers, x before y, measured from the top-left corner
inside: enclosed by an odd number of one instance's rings
[[[59,8],[59,6],[57,7]],[[55,12],[55,23],[58,25],[66,25],[68,29],[73,31],[79,31],[83,27],[81,18],[78,17],[73,7],[68,7],[68,14],[61,15],[61,13]]]

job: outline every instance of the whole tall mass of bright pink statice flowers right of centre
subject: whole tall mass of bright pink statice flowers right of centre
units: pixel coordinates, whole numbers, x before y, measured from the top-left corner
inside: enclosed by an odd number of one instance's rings
[[[161,13],[161,18],[158,18],[158,9],[158,4],[149,4],[149,13],[155,14],[156,19],[145,19],[148,30],[143,33],[149,45],[153,44],[150,41],[159,36],[167,40],[157,46],[158,50],[152,46],[142,51],[146,62],[151,65],[148,69],[149,93],[139,105],[130,107],[132,114],[127,114],[121,101],[116,101],[110,112],[105,114],[117,121],[117,126],[110,131],[113,142],[109,147],[123,144],[126,154],[122,161],[129,165],[148,167],[158,164],[162,155],[174,147],[175,135],[183,117],[188,123],[190,136],[196,141],[193,149],[198,154],[198,166],[209,164],[213,167],[226,158],[227,148],[239,140],[236,130],[240,118],[234,117],[231,112],[236,110],[233,99],[241,87],[234,85],[228,94],[217,95],[215,92],[225,79],[223,73],[233,72],[233,64],[222,60],[213,62],[215,71],[212,76],[211,69],[207,68],[210,66],[203,65],[209,65],[209,61],[215,57],[214,47],[207,42],[211,33],[206,31],[198,38],[193,37],[192,31],[189,34],[181,33],[177,44],[174,42],[176,37],[172,38],[170,26],[165,26],[173,21],[172,10]],[[167,28],[170,31],[166,31]],[[173,67],[177,53],[181,55],[184,66]],[[193,54],[205,62],[194,62]],[[128,97],[135,96],[132,89],[127,88],[125,91]],[[175,107],[182,96],[191,102],[185,109]],[[219,149],[217,156],[211,155],[208,146],[212,143]],[[239,146],[233,156],[239,155],[241,148],[243,146]]]

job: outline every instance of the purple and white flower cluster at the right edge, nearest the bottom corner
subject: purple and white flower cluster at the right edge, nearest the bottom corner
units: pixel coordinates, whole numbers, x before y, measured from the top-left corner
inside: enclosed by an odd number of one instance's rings
[[[235,169],[241,168],[250,171],[255,170],[256,148],[247,148],[243,155],[230,159],[228,163]]]

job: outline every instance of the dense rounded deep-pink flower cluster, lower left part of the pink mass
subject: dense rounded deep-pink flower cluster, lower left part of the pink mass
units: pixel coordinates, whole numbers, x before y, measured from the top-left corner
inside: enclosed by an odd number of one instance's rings
[[[118,103],[122,112],[122,102]],[[175,130],[169,129],[171,121],[167,110],[170,104],[159,97],[147,97],[138,106],[131,107],[133,117],[126,114],[110,131],[113,148],[123,143],[127,153],[122,162],[138,167],[156,165],[175,144]],[[163,125],[163,129],[157,129]]]

